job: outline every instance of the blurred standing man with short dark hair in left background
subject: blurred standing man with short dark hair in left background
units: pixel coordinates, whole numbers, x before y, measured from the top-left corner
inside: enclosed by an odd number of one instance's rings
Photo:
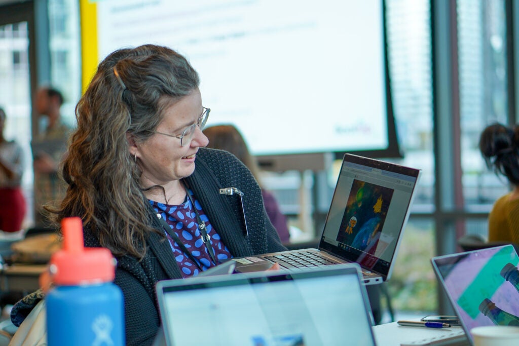
[[[59,201],[65,193],[65,184],[58,174],[58,165],[66,151],[66,140],[71,129],[61,119],[63,95],[52,87],[40,87],[36,92],[35,109],[45,117],[46,126],[32,142],[34,157],[35,224],[48,226],[44,206]]]

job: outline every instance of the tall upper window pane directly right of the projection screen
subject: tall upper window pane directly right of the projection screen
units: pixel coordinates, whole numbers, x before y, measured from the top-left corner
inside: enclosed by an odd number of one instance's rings
[[[427,0],[386,1],[393,109],[404,151],[401,163],[423,170],[416,205],[434,199],[430,8]]]

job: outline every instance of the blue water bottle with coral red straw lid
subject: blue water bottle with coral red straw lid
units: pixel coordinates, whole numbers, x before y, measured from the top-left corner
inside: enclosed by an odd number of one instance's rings
[[[125,344],[122,292],[112,283],[115,259],[106,248],[85,248],[79,217],[64,218],[63,249],[50,259],[56,287],[46,298],[49,346]]]

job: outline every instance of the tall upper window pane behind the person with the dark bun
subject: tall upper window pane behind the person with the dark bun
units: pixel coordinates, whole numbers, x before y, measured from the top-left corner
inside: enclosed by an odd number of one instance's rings
[[[485,126],[507,123],[504,1],[458,0],[457,15],[463,197],[472,209],[488,211],[508,189],[486,169],[478,147]]]

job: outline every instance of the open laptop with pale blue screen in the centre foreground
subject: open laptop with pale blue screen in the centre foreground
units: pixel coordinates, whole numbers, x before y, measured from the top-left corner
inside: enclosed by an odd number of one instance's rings
[[[156,289],[168,346],[375,345],[358,265],[196,276]]]

